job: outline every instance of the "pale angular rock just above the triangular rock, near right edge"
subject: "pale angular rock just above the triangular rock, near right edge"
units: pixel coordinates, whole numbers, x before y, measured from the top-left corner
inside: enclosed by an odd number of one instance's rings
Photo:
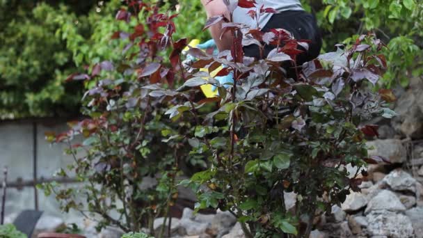
[[[388,184],[394,191],[412,191],[413,193],[416,191],[415,186],[417,181],[401,168],[392,170],[389,175],[383,178],[382,182]]]

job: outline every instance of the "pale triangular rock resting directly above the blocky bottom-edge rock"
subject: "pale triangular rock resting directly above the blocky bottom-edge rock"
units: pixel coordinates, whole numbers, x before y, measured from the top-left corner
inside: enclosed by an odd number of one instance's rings
[[[381,210],[403,212],[406,210],[406,207],[392,191],[382,190],[378,193],[378,195],[374,196],[374,198],[369,201],[365,209],[365,214],[369,214],[369,212],[372,211]]]

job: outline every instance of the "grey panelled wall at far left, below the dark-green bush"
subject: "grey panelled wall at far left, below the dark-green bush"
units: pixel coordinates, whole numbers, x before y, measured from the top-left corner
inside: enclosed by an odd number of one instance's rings
[[[66,166],[72,158],[63,154],[63,145],[51,146],[45,141],[45,132],[63,132],[67,129],[65,120],[38,120],[37,157],[38,179],[50,178],[54,172]],[[8,182],[33,180],[33,122],[31,120],[0,122],[0,168],[8,166]],[[0,181],[3,173],[0,174]],[[45,214],[64,217],[53,197],[46,198],[38,192],[39,208]],[[10,188],[6,196],[6,216],[16,214],[23,209],[34,209],[34,189],[24,187],[22,190]]]

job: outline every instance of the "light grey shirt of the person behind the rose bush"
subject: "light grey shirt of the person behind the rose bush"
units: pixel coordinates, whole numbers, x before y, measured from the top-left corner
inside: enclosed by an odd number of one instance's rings
[[[231,0],[232,1],[232,0]],[[264,8],[273,8],[277,13],[281,13],[286,10],[303,10],[301,2],[299,0],[256,0],[257,8],[260,8],[264,5]],[[257,20],[253,19],[248,15],[248,11],[253,8],[236,8],[234,10],[234,22],[243,23],[250,26],[253,29],[257,28]],[[260,15],[259,26],[260,29],[263,29],[266,26],[267,22],[271,18],[272,13],[264,13]]]

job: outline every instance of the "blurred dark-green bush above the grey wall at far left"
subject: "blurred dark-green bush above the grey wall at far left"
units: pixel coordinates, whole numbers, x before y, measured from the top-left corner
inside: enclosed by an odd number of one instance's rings
[[[96,3],[0,1],[0,118],[78,113],[82,87],[65,83],[75,68],[56,18],[86,14]]]

